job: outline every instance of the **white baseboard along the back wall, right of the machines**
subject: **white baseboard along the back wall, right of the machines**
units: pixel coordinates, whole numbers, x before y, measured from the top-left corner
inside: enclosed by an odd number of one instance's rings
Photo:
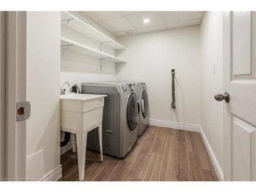
[[[170,121],[160,121],[160,120],[154,120],[154,119],[148,119],[148,124],[154,125],[154,126],[162,126],[162,127],[177,129],[177,130],[200,132],[199,125],[176,123],[176,122],[170,122]]]

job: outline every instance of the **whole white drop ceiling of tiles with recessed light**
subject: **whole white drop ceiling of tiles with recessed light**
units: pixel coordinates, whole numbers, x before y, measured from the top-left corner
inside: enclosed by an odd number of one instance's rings
[[[116,36],[201,24],[204,11],[83,11]],[[144,19],[149,19],[144,23]]]

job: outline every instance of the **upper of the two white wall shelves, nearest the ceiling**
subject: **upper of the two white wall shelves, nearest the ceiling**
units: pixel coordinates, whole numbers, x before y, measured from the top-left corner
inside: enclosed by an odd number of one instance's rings
[[[114,39],[110,38],[109,36],[106,36],[105,34],[101,33],[97,29],[93,28],[92,26],[83,22],[81,19],[75,17],[74,15],[66,11],[61,11],[61,25],[62,30],[63,28],[68,27],[96,41],[99,41],[101,44],[107,45],[115,50],[126,49],[124,46],[119,44]]]

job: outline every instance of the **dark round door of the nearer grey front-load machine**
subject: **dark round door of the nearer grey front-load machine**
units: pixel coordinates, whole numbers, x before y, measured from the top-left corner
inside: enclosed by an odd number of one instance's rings
[[[138,98],[134,93],[129,96],[127,101],[126,119],[130,131],[134,131],[139,123]]]

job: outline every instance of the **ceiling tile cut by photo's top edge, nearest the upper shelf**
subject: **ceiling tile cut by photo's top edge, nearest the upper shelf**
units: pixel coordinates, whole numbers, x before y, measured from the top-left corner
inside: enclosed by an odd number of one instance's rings
[[[91,17],[95,22],[124,16],[121,11],[83,11],[83,13]]]

